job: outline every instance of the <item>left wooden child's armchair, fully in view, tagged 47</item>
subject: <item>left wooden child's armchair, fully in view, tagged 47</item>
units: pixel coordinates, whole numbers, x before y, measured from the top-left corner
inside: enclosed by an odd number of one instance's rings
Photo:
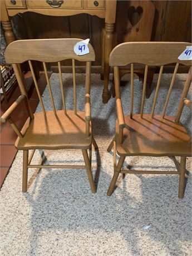
[[[6,49],[6,61],[12,63],[16,73],[21,96],[12,104],[11,107],[2,115],[1,121],[9,121],[18,138],[15,146],[18,150],[23,150],[23,182],[22,191],[27,191],[27,172],[28,168],[86,168],[88,180],[90,182],[92,193],[96,192],[91,171],[91,148],[92,144],[97,148],[97,144],[92,136],[91,129],[91,107],[90,107],[90,77],[91,61],[95,61],[95,52],[90,44],[88,48],[90,53],[83,56],[77,56],[73,51],[73,46],[79,39],[48,39],[48,40],[21,40],[14,41]],[[63,90],[63,81],[61,73],[61,61],[72,59],[73,71],[73,101],[74,110],[67,110],[65,103],[65,90]],[[50,93],[52,111],[46,111],[43,100],[40,95],[38,83],[32,66],[32,60],[43,62],[47,86]],[[76,76],[75,60],[86,62],[86,81],[85,81],[85,112],[77,111],[76,107]],[[42,112],[33,114],[29,105],[27,92],[23,86],[23,81],[17,64],[28,61],[31,69],[33,81],[40,100]],[[50,80],[48,78],[46,62],[58,62],[58,71],[60,85],[55,90],[62,95],[63,109],[56,110]],[[60,87],[60,88],[59,88]],[[65,86],[64,86],[65,89]],[[28,110],[28,119],[21,131],[11,119],[14,109],[21,103],[25,102]],[[30,165],[33,154],[36,149],[81,149],[85,165]],[[28,157],[29,150],[32,150],[31,156]],[[89,150],[89,155],[87,150]]]

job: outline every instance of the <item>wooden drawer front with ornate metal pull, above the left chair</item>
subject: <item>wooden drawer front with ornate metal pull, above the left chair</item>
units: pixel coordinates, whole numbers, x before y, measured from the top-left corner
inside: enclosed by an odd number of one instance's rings
[[[1,0],[0,0],[1,1]],[[28,8],[76,9],[82,8],[82,0],[26,0]]]

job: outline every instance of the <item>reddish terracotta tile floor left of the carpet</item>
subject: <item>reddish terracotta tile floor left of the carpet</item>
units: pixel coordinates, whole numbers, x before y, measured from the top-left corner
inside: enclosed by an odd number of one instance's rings
[[[27,73],[27,77],[30,76],[30,73]],[[47,85],[46,77],[43,72],[40,73],[40,79],[38,80],[38,85],[40,87],[41,95],[43,91],[45,90],[45,87]],[[8,103],[2,102],[1,104],[1,115],[8,109],[9,106],[18,98],[20,95],[19,88],[16,88],[14,90],[11,99],[9,99]],[[33,90],[32,96],[29,99],[30,105],[32,107],[32,111],[34,112],[36,110],[36,107],[38,105],[38,96],[36,93],[36,90]],[[26,121],[28,117],[27,110],[23,102],[19,104],[16,110],[14,110],[12,118],[14,121],[16,121],[16,124],[21,129],[24,122]],[[1,151],[1,170],[0,170],[0,187],[2,187],[4,179],[6,178],[9,168],[13,163],[14,157],[16,156],[17,150],[14,147],[14,142],[16,141],[17,135],[13,131],[12,127],[6,122],[5,124],[1,123],[1,133],[0,133],[0,151]]]

